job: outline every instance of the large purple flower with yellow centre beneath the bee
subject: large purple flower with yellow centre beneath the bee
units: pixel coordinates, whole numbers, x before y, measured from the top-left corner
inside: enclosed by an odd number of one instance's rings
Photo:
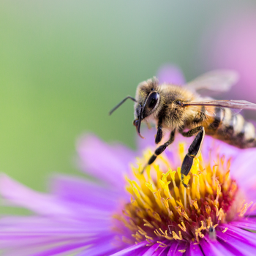
[[[4,255],[255,255],[256,150],[206,136],[186,189],[180,166],[191,139],[177,136],[141,174],[154,149],[154,133],[146,138],[143,155],[80,138],[78,164],[94,178],[55,176],[47,194],[2,175],[4,202],[31,211],[1,217]]]

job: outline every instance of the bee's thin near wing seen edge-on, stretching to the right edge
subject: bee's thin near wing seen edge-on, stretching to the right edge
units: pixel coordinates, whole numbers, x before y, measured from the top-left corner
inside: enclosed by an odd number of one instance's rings
[[[219,108],[233,108],[233,109],[250,109],[256,110],[256,104],[247,102],[246,100],[234,100],[234,99],[223,99],[223,100],[204,100],[202,102],[188,102],[183,103],[183,106],[215,106]]]

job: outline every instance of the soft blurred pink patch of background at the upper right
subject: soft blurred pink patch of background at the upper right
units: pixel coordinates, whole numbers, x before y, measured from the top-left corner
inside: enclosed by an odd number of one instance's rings
[[[208,28],[202,37],[202,69],[235,69],[241,76],[238,84],[222,99],[246,99],[256,103],[256,10],[230,12]],[[246,112],[255,118],[255,112]]]

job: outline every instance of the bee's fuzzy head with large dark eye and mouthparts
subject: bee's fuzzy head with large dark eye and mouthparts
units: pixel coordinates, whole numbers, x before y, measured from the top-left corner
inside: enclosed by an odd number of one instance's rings
[[[158,80],[156,78],[149,79],[138,85],[136,91],[135,103],[135,125],[138,135],[140,135],[140,124],[143,119],[153,114],[160,102],[160,95],[158,91]],[[142,136],[140,135],[142,138]]]

